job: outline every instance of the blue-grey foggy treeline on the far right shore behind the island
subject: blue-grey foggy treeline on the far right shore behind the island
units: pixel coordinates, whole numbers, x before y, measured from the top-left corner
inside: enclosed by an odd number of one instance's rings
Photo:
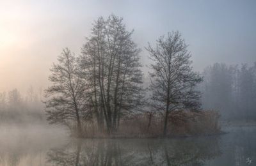
[[[219,110],[223,119],[255,121],[256,62],[253,65],[215,63],[202,73],[202,106]]]

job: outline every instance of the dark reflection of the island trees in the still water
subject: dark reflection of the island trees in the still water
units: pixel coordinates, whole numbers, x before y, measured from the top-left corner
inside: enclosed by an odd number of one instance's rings
[[[75,140],[47,153],[50,165],[205,165],[219,139]]]

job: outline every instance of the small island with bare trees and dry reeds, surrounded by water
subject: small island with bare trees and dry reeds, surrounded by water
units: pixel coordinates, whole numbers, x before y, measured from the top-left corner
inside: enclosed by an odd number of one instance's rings
[[[123,19],[95,20],[76,56],[68,48],[53,64],[45,90],[47,120],[86,138],[187,137],[220,133],[218,112],[202,110],[191,54],[179,31],[148,43],[148,86],[141,49]]]

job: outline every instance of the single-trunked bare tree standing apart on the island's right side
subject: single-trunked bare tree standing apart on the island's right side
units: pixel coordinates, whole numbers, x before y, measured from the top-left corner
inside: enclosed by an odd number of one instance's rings
[[[164,110],[163,135],[166,135],[168,114],[177,109],[193,109],[200,107],[200,93],[195,90],[202,81],[198,73],[193,72],[188,45],[181,38],[179,31],[168,33],[167,38],[161,36],[156,47],[148,44],[146,48],[150,59],[150,90],[153,107]]]

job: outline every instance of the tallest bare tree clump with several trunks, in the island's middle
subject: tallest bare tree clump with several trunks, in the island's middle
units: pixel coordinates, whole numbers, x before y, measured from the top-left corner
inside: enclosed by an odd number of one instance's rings
[[[81,73],[90,87],[90,102],[99,128],[118,128],[120,117],[140,104],[142,72],[140,49],[122,18],[100,17],[82,48]]]

